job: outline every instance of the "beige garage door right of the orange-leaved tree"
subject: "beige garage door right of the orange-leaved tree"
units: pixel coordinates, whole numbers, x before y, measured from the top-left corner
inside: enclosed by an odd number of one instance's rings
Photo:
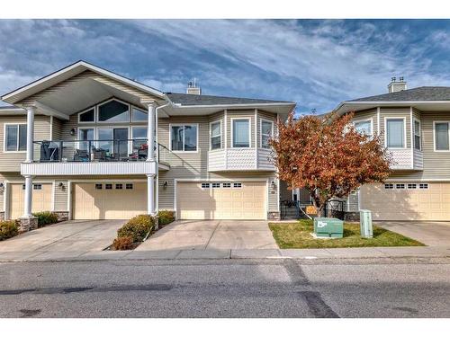
[[[365,185],[360,205],[376,220],[450,220],[450,183],[389,182]]]

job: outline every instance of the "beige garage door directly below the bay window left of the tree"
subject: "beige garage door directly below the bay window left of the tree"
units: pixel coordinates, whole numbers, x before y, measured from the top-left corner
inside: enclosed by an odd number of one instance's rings
[[[181,219],[265,219],[266,182],[178,182]]]

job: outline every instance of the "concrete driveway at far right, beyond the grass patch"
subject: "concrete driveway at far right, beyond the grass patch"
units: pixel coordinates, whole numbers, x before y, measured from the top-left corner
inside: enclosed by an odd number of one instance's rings
[[[376,222],[376,225],[429,246],[450,246],[450,222],[381,221]]]

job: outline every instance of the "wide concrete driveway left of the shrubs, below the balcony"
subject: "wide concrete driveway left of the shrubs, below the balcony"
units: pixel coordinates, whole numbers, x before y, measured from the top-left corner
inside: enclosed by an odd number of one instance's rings
[[[72,220],[0,242],[0,252],[102,251],[126,220]]]

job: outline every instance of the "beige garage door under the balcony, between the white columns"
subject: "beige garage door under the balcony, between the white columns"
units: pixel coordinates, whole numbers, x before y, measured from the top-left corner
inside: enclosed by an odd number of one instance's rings
[[[72,200],[74,219],[128,219],[147,213],[147,184],[74,183]]]

